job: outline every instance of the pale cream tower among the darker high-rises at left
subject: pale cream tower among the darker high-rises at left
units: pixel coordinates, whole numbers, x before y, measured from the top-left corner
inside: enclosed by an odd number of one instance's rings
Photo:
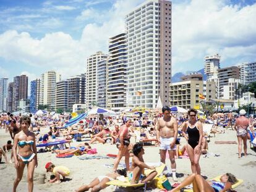
[[[41,74],[39,104],[48,105],[54,111],[56,106],[56,83],[61,80],[61,75],[55,71]]]

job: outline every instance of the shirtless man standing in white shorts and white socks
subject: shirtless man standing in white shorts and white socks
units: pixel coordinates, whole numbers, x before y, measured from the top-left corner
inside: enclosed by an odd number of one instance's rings
[[[171,109],[164,106],[162,109],[163,117],[158,119],[156,139],[160,146],[161,162],[165,164],[166,151],[169,152],[169,159],[171,161],[171,170],[173,172],[173,181],[177,182],[176,178],[176,162],[174,154],[176,152],[176,139],[177,139],[177,120],[171,117]]]

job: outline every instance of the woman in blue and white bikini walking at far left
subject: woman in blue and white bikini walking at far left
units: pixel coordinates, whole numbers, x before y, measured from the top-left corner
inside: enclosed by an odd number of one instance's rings
[[[28,130],[30,122],[30,117],[22,116],[20,118],[22,130],[14,137],[13,152],[17,178],[14,181],[13,191],[16,191],[16,188],[22,179],[25,165],[27,165],[28,168],[28,191],[33,191],[33,173],[35,167],[37,167],[37,154],[35,146],[35,134]],[[18,154],[17,148],[19,148]]]

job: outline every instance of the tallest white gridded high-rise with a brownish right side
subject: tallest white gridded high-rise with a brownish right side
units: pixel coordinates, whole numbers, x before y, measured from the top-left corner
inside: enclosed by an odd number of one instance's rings
[[[127,106],[169,105],[171,1],[148,0],[126,15]]]

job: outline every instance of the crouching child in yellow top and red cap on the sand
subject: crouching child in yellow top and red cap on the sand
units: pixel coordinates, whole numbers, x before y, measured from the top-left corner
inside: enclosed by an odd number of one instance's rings
[[[61,176],[63,179],[66,179],[67,176],[70,174],[70,170],[62,165],[55,166],[51,162],[48,162],[45,165],[46,172],[53,172],[55,178],[53,180],[49,180],[50,183],[61,183]]]

